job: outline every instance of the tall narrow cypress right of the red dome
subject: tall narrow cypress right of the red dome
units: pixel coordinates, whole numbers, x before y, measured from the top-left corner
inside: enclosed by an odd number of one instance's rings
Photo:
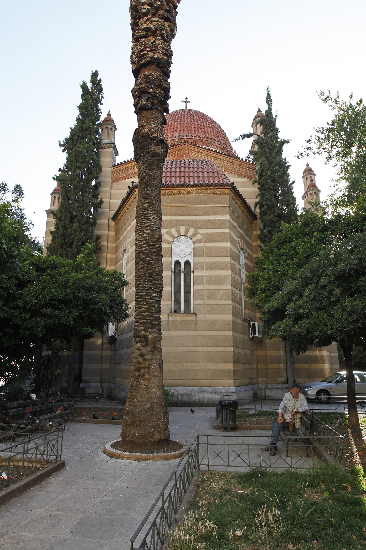
[[[277,128],[277,112],[272,111],[272,97],[267,87],[267,109],[265,116],[258,120],[262,134],[257,135],[258,149],[252,151],[253,160],[257,163],[258,194],[255,208],[259,206],[263,227],[260,228],[259,240],[264,246],[271,242],[273,235],[278,233],[282,223],[297,222],[296,199],[294,197],[294,182],[290,182],[290,165],[283,156],[283,147],[289,140],[279,138]],[[243,134],[241,139],[251,134]],[[238,139],[240,139],[238,138]]]

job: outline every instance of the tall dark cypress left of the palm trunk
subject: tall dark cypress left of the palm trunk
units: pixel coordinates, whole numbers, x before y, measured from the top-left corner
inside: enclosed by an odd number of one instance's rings
[[[53,178],[60,185],[61,201],[54,215],[55,226],[50,232],[52,239],[47,252],[69,260],[76,260],[83,246],[93,240],[97,224],[95,213],[103,204],[98,191],[98,177],[102,172],[99,122],[103,102],[98,71],[92,72],[90,83],[90,88],[85,81],[80,85],[81,103],[76,124],[70,129],[70,135],[59,142],[67,153],[66,162]],[[97,245],[99,240],[97,235]]]

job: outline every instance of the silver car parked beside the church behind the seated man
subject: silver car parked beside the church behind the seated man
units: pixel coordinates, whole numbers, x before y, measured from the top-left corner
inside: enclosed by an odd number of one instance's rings
[[[366,397],[366,372],[353,371],[356,384],[356,397]],[[307,399],[317,399],[320,403],[328,403],[329,399],[346,399],[346,372],[335,372],[321,382],[300,384],[300,391]]]

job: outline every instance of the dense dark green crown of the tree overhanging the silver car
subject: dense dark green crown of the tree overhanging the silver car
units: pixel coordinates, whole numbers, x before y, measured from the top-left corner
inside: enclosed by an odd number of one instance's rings
[[[365,233],[325,245],[264,307],[281,319],[269,336],[290,340],[297,354],[332,342],[366,348],[365,271]]]

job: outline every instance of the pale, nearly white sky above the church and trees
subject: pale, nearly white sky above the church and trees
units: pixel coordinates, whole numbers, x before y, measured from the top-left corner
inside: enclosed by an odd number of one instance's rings
[[[136,128],[129,62],[128,0],[1,2],[0,181],[23,186],[26,213],[42,243],[45,210],[63,165],[59,140],[77,116],[82,80],[98,69],[104,89],[103,117],[110,109],[117,125],[116,162],[133,157]],[[316,90],[364,95],[366,3],[348,0],[183,0],[172,42],[170,111],[190,107],[221,125],[230,140],[251,131],[258,105],[266,108],[266,87],[278,109],[281,137],[299,207],[302,171],[295,154],[331,114]],[[244,157],[251,140],[233,144]],[[309,159],[321,198],[335,171],[319,157]]]

